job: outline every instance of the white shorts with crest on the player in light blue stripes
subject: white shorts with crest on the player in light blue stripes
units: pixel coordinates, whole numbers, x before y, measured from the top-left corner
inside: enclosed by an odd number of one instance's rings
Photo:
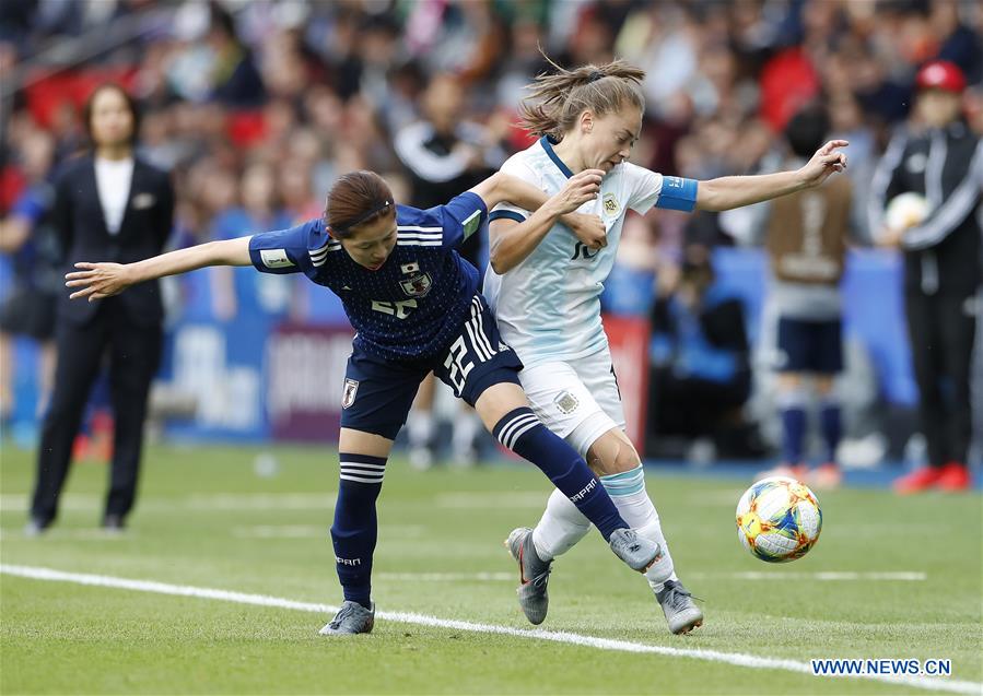
[[[564,363],[540,363],[518,374],[533,411],[581,457],[601,435],[624,429],[624,406],[608,349]]]

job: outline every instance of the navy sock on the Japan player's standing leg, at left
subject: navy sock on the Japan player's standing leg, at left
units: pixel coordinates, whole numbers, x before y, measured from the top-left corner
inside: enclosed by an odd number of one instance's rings
[[[344,452],[338,457],[341,479],[331,526],[335,565],[344,599],[370,609],[372,554],[378,535],[375,500],[383,489],[386,459]]]

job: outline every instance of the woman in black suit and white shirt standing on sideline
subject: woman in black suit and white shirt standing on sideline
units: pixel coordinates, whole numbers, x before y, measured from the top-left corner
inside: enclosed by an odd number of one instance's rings
[[[102,85],[84,110],[92,153],[70,162],[56,182],[52,226],[71,267],[83,259],[127,263],[161,253],[171,234],[174,191],[166,173],[134,156],[137,110],[117,85]],[[72,443],[93,381],[108,354],[116,422],[103,527],[122,529],[133,506],[150,382],[161,354],[163,306],[156,282],[101,303],[58,305],[58,362],[42,427],[28,534],[58,512]]]

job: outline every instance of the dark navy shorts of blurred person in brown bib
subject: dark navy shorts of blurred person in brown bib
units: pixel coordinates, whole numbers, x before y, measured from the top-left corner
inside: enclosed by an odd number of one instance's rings
[[[843,370],[843,322],[779,319],[780,373],[835,375]]]

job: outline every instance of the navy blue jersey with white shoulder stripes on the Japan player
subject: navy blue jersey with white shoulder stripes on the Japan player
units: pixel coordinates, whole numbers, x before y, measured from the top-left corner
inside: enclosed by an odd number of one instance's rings
[[[478,290],[478,271],[454,248],[488,220],[484,201],[465,192],[446,205],[396,207],[396,248],[383,267],[359,266],[324,221],[267,232],[249,240],[264,273],[304,273],[341,298],[358,331],[355,345],[386,359],[433,357],[458,334]]]

